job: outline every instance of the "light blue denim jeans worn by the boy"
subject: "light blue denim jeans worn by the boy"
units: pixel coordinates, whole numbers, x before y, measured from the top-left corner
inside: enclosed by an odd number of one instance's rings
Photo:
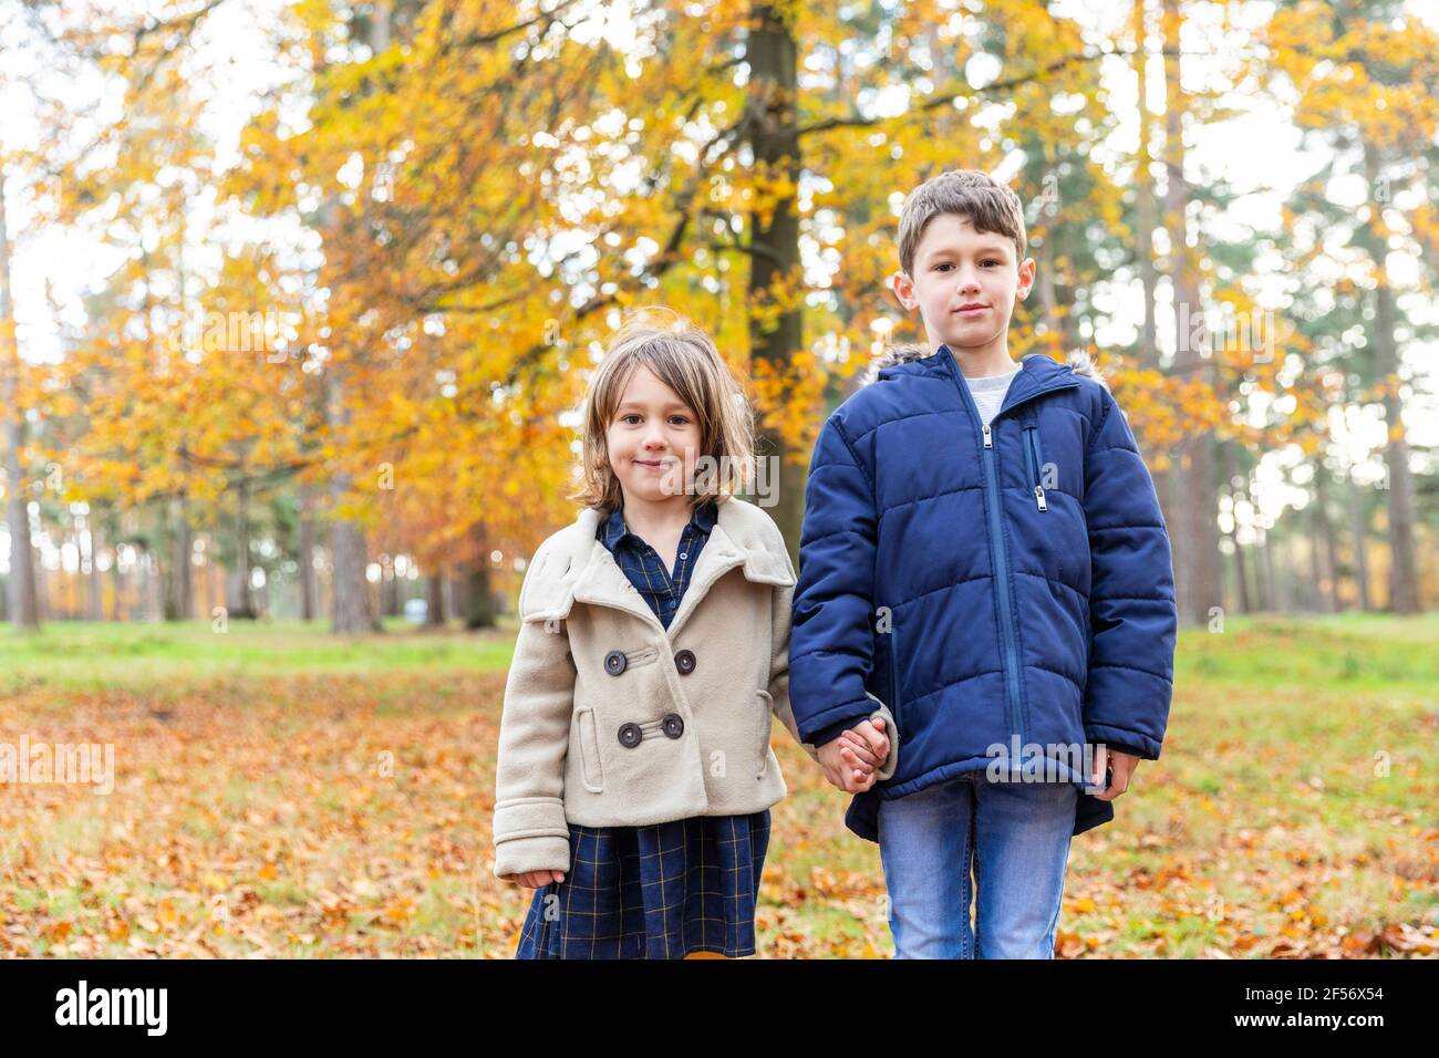
[[[968,772],[879,802],[895,959],[1053,959],[1078,796]]]

